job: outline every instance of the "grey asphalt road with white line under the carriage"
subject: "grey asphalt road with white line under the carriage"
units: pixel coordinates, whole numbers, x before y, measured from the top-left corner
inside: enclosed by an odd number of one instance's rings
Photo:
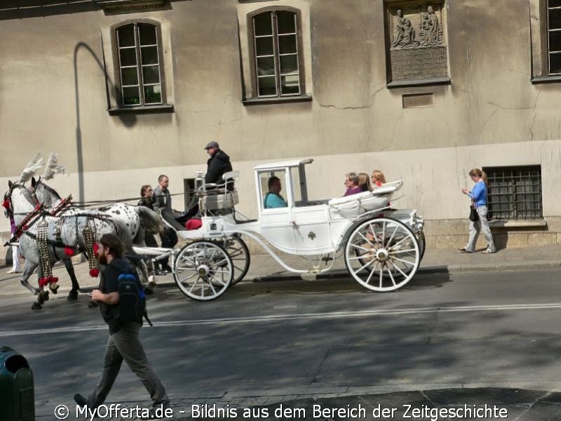
[[[240,283],[213,302],[176,288],[149,298],[142,340],[172,400],[442,387],[557,389],[561,272],[419,272],[396,293],[349,279]],[[88,297],[0,300],[0,346],[34,370],[36,411],[88,394],[107,327]],[[113,402],[148,396],[123,368]],[[201,401],[203,403],[203,401]],[[52,407],[52,408],[51,408]]]

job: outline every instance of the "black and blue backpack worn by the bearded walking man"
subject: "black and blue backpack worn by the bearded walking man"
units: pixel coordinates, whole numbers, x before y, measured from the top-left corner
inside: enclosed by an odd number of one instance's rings
[[[116,305],[115,319],[125,322],[142,322],[144,317],[148,324],[152,326],[146,312],[146,295],[138,274],[134,270],[131,272],[130,267],[119,268],[119,271],[119,278],[117,278],[119,303]]]

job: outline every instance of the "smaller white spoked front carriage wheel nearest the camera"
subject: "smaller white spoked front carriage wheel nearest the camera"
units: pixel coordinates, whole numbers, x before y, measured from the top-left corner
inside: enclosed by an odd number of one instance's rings
[[[222,295],[234,277],[234,265],[222,246],[214,241],[194,241],[175,257],[173,278],[182,293],[199,301]]]

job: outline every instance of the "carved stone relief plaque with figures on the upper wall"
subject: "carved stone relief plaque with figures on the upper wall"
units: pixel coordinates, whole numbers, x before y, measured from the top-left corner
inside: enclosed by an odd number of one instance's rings
[[[443,2],[387,5],[391,81],[448,76]]]

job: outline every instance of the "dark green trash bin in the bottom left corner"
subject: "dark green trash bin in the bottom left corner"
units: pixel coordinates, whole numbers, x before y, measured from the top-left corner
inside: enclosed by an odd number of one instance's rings
[[[33,373],[27,360],[0,347],[0,413],[2,421],[34,421]]]

